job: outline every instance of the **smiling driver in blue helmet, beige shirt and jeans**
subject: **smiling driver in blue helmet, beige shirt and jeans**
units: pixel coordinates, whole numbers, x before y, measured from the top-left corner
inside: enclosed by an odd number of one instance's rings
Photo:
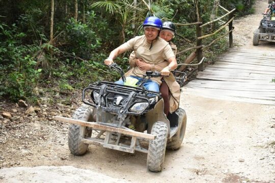
[[[114,49],[109,54],[109,57],[104,60],[104,63],[106,65],[111,65],[114,63],[113,59],[115,59],[119,54],[132,50],[135,52],[136,57],[142,58],[147,64],[158,65],[162,63],[164,67],[160,70],[160,74],[163,76],[169,76],[170,71],[177,68],[177,60],[169,43],[159,38],[159,33],[162,28],[161,20],[157,17],[148,17],[143,23],[143,28],[143,36],[136,36]],[[142,80],[143,75],[145,75],[145,71],[137,66],[133,67],[127,73],[127,76],[137,79],[138,82]],[[148,79],[143,86],[147,90],[159,92],[161,78],[162,77],[154,77]],[[116,83],[124,84],[122,80],[119,80]]]

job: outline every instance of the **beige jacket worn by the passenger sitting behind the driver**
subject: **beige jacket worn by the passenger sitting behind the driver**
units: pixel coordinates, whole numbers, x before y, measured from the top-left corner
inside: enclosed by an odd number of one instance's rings
[[[170,42],[170,46],[174,52],[174,54],[176,55],[177,53],[177,46],[175,44],[173,44],[172,42]],[[135,53],[134,51],[130,54],[129,57],[129,64],[131,67],[135,67]],[[169,63],[166,62],[162,62],[162,63],[158,63],[158,64],[153,64],[152,65],[152,71],[161,71],[164,67],[167,67],[169,65]],[[130,69],[125,76],[129,76],[131,75],[131,70]],[[163,77],[163,80],[167,83],[169,90],[170,90],[170,99],[169,99],[169,103],[170,103],[170,108],[169,108],[169,112],[172,113],[174,111],[176,111],[179,108],[179,102],[180,102],[180,85],[179,83],[176,81],[174,75],[172,73],[170,73],[170,75],[168,77]]]

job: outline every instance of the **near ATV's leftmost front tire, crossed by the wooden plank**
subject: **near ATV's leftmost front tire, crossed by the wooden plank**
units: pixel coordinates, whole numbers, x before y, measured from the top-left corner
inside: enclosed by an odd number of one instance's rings
[[[92,111],[89,107],[81,106],[73,114],[74,119],[91,121],[93,119]],[[81,139],[86,135],[92,134],[92,129],[85,126],[71,125],[69,127],[68,145],[73,155],[84,155],[89,144],[81,142]]]

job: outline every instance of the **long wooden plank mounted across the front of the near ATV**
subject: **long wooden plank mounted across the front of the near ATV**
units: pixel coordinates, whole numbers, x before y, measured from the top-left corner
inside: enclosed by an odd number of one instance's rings
[[[120,129],[120,128],[108,127],[108,126],[104,126],[104,125],[99,125],[95,122],[87,122],[87,121],[72,119],[72,118],[68,118],[68,117],[54,116],[53,118],[56,120],[64,121],[64,122],[71,123],[71,124],[91,127],[91,128],[95,128],[98,130],[122,133],[122,134],[126,134],[126,135],[131,135],[134,137],[142,137],[142,138],[151,139],[151,140],[154,140],[156,137],[156,135],[151,135],[151,134],[146,134],[146,133],[141,133],[141,132],[136,132],[136,131],[131,131],[131,130],[125,130],[125,129]]]

